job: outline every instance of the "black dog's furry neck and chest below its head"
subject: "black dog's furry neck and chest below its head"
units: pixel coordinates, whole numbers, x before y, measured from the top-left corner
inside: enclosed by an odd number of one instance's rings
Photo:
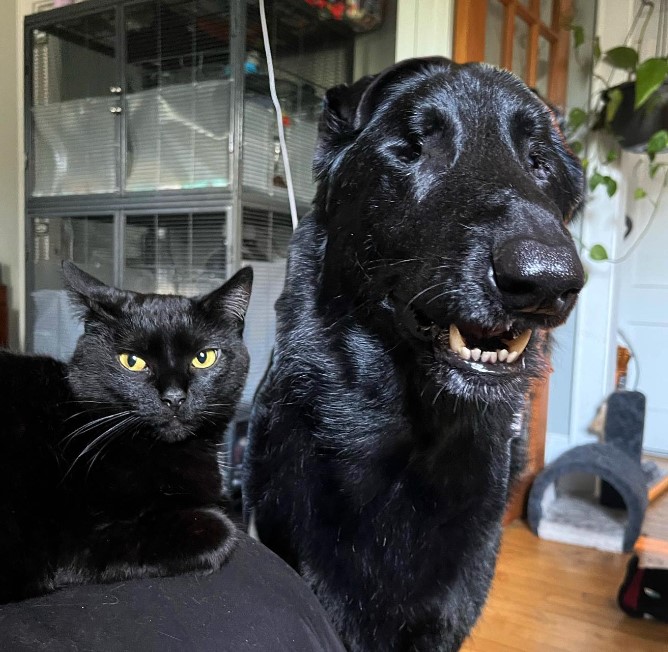
[[[340,631],[351,608],[357,631],[375,626],[364,624],[371,607],[410,622],[440,619],[445,601],[463,600],[475,618],[484,595],[468,587],[493,573],[514,415],[437,396],[417,370],[406,373],[411,351],[388,347],[354,312],[319,305],[325,238],[313,216],[295,234],[274,359],[256,399],[246,500],[262,515],[260,538],[330,615],[348,603]]]

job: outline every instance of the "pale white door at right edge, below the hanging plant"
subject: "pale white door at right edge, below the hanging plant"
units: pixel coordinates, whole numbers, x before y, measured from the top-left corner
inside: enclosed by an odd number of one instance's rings
[[[663,172],[653,183],[639,179],[637,175],[646,165],[638,166],[640,171],[634,169],[637,160],[629,155],[624,162],[625,176],[631,183],[627,214],[633,227],[622,256],[638,237],[641,239],[624,262],[618,263],[619,328],[635,354],[629,364],[627,389],[637,389],[647,397],[644,448],[668,455],[668,189],[645,230],[654,207],[647,198],[634,200],[633,193],[636,187],[643,187],[654,198]]]

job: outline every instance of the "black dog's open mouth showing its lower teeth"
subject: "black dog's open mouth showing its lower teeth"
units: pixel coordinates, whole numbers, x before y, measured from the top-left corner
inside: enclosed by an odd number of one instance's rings
[[[401,305],[401,322],[420,340],[431,342],[437,359],[459,360],[476,369],[501,371],[522,359],[532,330],[515,324],[483,328],[472,323],[440,326],[415,306]]]

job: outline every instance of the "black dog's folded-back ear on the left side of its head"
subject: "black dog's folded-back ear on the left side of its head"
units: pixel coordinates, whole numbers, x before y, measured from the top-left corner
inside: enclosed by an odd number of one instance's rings
[[[350,86],[342,84],[330,88],[325,94],[318,128],[313,161],[316,179],[322,179],[331,171],[337,156],[364,129],[391,85],[421,71],[434,67],[447,69],[451,65],[444,57],[405,59],[377,75],[362,77]]]

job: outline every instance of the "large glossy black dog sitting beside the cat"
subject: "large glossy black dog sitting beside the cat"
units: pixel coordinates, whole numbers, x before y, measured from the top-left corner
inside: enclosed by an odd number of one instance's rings
[[[583,284],[583,174],[513,75],[430,58],[327,93],[245,501],[350,650],[480,614],[546,329]]]

